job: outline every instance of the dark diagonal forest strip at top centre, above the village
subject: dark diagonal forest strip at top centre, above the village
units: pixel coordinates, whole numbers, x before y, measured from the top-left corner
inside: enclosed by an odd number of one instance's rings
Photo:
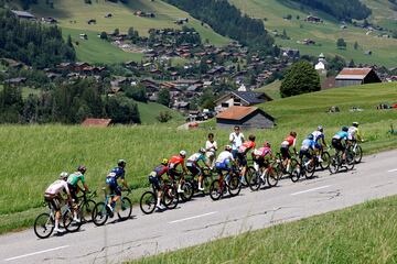
[[[275,40],[265,30],[264,22],[243,15],[226,0],[167,1],[208,24],[218,34],[229,36],[251,51],[275,53]]]

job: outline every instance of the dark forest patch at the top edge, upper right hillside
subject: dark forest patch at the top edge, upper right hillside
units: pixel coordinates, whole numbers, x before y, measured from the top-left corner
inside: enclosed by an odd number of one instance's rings
[[[369,16],[371,9],[360,0],[292,0],[294,2],[321,10],[339,20],[363,20]]]

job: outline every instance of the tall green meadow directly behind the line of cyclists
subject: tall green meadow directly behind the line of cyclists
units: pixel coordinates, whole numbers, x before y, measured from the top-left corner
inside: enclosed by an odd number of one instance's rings
[[[387,133],[390,123],[397,127],[396,110],[376,110],[379,102],[397,101],[396,84],[377,84],[339,88],[264,103],[260,107],[277,118],[271,130],[244,131],[257,135],[260,144],[269,140],[277,150],[291,130],[298,141],[324,125],[326,139],[343,124],[362,123],[365,153],[397,147],[397,138]],[[326,113],[339,106],[340,113]],[[352,106],[364,109],[350,112]],[[214,124],[210,122],[206,128]],[[228,130],[212,130],[218,145],[227,144]],[[87,183],[100,189],[107,172],[118,158],[127,160],[127,179],[136,189],[133,200],[148,186],[147,175],[162,157],[180,150],[189,154],[203,146],[208,130],[181,131],[174,125],[116,125],[108,129],[66,125],[1,125],[0,145],[0,233],[30,227],[42,205],[42,193],[60,172],[72,172],[78,164],[88,168]],[[21,188],[23,186],[23,188]],[[37,209],[34,209],[37,208]],[[26,210],[30,210],[26,212]]]

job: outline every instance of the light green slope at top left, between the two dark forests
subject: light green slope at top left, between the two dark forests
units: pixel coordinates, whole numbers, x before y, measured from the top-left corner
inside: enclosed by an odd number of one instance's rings
[[[116,28],[120,32],[127,33],[130,26],[139,31],[140,35],[148,35],[149,29],[176,28],[180,25],[173,23],[178,18],[189,18],[187,26],[193,26],[201,34],[202,40],[208,38],[215,45],[228,43],[228,38],[216,34],[210,26],[201,25],[201,22],[190,16],[187,13],[167,4],[160,0],[132,0],[129,4],[111,3],[105,0],[93,1],[93,4],[85,4],[83,0],[55,0],[54,9],[50,9],[40,0],[37,6],[32,6],[32,11],[39,16],[54,16],[60,21],[60,26],[67,29],[75,35],[78,33],[93,34],[86,41],[87,45],[77,48],[77,55],[81,61],[115,63],[126,62],[131,58],[140,59],[137,55],[127,54],[122,51],[116,52],[109,43],[97,41],[96,34],[101,31],[112,32]],[[139,18],[133,15],[133,11],[142,10],[153,12],[157,16],[153,19]],[[112,13],[114,18],[105,19],[106,13]],[[88,25],[87,20],[95,19],[97,24]],[[76,21],[72,23],[71,21]],[[75,30],[75,31],[71,31]],[[66,30],[65,30],[66,32]],[[95,40],[95,41],[94,41]],[[106,54],[101,54],[106,51]],[[111,57],[110,54],[115,54]],[[125,57],[122,57],[122,54]]]

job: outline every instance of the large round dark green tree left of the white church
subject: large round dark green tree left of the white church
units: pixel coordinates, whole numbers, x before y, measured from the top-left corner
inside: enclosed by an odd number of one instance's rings
[[[300,61],[292,64],[287,70],[286,77],[281,82],[280,94],[281,97],[290,97],[319,91],[320,89],[320,76],[316,70],[310,63]]]

